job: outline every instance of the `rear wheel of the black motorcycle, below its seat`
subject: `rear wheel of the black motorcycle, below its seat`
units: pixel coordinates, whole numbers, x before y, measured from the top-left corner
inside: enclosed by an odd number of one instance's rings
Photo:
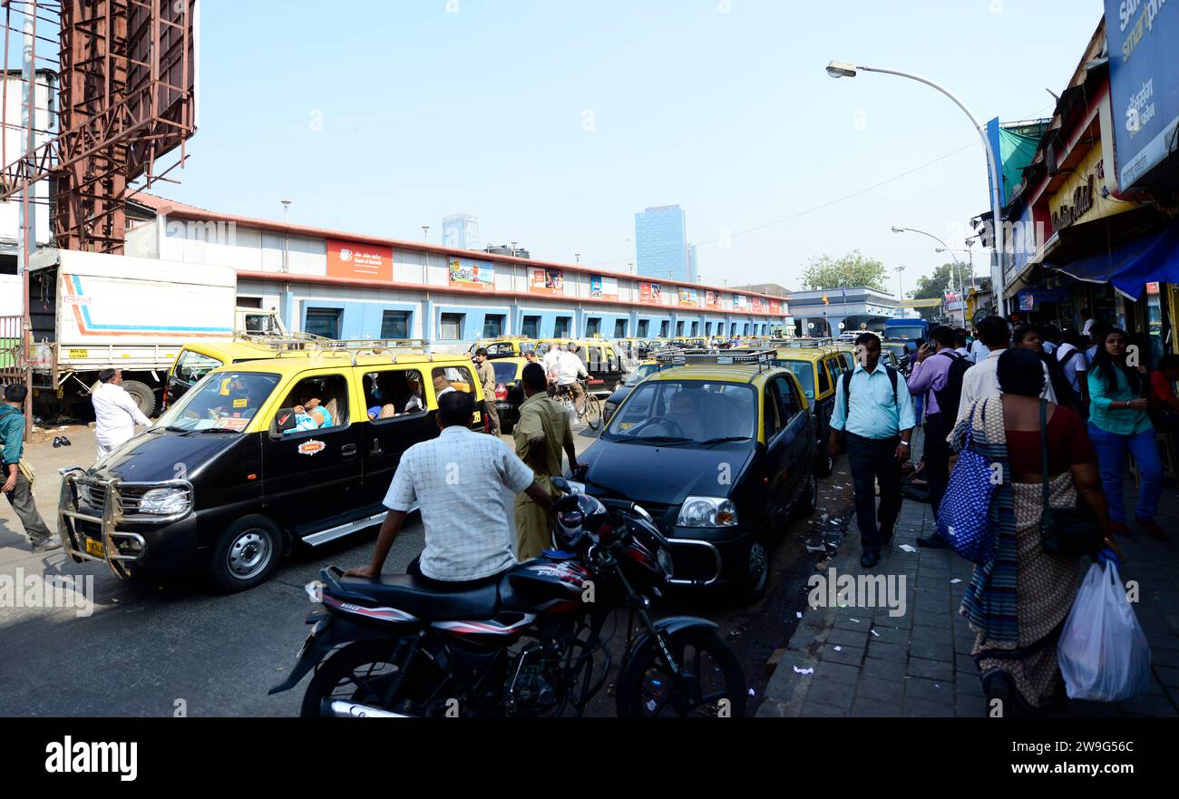
[[[308,685],[299,714],[320,718],[324,715],[324,700],[340,700],[406,715],[426,715],[429,705],[421,699],[424,669],[414,668],[424,666],[420,662],[422,658],[410,663],[395,687],[399,676],[395,649],[396,641],[356,641],[332,654]]]

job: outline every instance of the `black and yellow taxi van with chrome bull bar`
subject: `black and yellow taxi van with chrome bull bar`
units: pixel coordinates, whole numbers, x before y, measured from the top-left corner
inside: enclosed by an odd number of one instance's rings
[[[296,544],[378,524],[402,453],[439,435],[439,396],[470,392],[473,429],[487,415],[465,354],[371,344],[218,367],[146,431],[64,469],[66,552],[120,577],[203,567],[242,590]]]

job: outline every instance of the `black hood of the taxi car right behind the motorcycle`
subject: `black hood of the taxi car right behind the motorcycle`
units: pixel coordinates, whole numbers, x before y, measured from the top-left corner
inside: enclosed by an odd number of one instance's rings
[[[588,464],[590,494],[610,494],[633,502],[679,504],[689,496],[727,496],[756,453],[755,442],[711,448],[654,447],[601,438],[578,460]],[[729,464],[727,482],[720,482]]]

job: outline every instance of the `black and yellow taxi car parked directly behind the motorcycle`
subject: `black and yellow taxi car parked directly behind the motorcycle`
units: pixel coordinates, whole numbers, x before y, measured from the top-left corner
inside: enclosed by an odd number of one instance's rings
[[[643,506],[671,543],[672,585],[765,592],[772,540],[811,513],[815,423],[772,350],[670,354],[579,457],[575,490]]]

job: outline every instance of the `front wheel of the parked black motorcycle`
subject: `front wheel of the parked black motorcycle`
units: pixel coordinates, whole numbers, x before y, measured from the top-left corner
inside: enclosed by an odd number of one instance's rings
[[[634,653],[618,686],[621,717],[743,717],[746,684],[737,654],[713,629],[673,633],[667,649],[680,668],[677,681],[652,640]]]

